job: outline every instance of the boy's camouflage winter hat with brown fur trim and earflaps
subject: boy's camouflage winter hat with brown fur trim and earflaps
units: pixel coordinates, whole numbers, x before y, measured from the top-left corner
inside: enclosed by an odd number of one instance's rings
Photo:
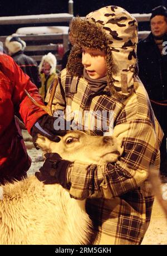
[[[112,94],[124,98],[132,93],[136,70],[137,21],[125,9],[107,6],[74,18],[70,33],[75,41],[67,72],[83,76],[81,46],[105,50],[107,81]]]

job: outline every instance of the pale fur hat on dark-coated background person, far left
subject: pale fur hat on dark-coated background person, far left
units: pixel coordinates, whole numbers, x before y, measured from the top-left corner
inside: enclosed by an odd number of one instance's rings
[[[8,36],[5,40],[5,46],[11,54],[15,54],[18,51],[23,51],[26,47],[26,42],[21,40],[17,35]]]

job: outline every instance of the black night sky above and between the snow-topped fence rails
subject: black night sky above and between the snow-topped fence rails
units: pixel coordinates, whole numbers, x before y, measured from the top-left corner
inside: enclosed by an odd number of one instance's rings
[[[73,0],[73,14],[75,16],[86,16],[87,13],[107,5],[123,7],[130,13],[150,13],[152,8],[160,4],[167,7],[167,0]],[[1,16],[38,15],[62,12],[68,13],[68,0],[0,0]],[[1,25],[0,35],[9,35],[15,32],[18,27],[23,26],[25,25],[14,25],[10,27]],[[37,26],[42,26],[42,24]],[[149,22],[140,23],[139,26],[139,30],[148,30]]]

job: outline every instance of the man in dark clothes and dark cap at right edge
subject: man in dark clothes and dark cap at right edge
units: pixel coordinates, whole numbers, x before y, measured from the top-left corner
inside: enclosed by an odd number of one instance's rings
[[[148,91],[156,118],[164,132],[160,147],[160,172],[167,176],[167,9],[158,6],[151,11],[151,33],[137,45],[139,78]]]

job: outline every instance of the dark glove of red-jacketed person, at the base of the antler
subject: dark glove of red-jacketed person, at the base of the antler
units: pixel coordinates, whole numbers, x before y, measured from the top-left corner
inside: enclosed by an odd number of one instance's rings
[[[62,124],[62,127],[59,124],[60,122]],[[38,119],[38,121],[31,128],[33,144],[38,149],[36,144],[38,133],[40,133],[43,136],[46,136],[51,141],[59,142],[60,138],[57,136],[65,136],[65,134],[67,133],[65,128],[68,126],[68,122],[66,122],[66,120],[62,117],[51,117],[51,115],[48,114],[42,115],[42,117],[40,117],[40,119]]]

